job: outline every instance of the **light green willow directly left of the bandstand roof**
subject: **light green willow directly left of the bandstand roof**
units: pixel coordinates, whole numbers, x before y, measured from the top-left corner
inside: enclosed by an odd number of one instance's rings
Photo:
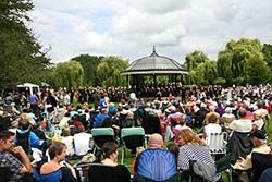
[[[101,86],[125,85],[125,77],[120,73],[127,66],[128,60],[125,61],[120,57],[104,57],[97,70]]]

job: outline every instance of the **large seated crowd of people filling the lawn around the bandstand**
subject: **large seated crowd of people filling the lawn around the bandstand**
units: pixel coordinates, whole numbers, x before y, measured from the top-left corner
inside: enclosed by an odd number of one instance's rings
[[[268,145],[265,128],[272,110],[271,92],[270,85],[228,88],[218,85],[143,85],[135,90],[79,87],[77,90],[38,89],[32,96],[7,93],[0,106],[0,167],[10,168],[10,181],[24,181],[32,173],[42,182],[77,181],[75,169],[69,161],[94,151],[91,129],[112,128],[118,143],[122,128],[143,126],[149,137],[149,149],[140,154],[136,148],[132,149],[132,155],[137,156],[133,178],[136,181],[141,178],[164,181],[175,178],[176,173],[183,173],[186,180],[191,166],[209,169],[208,175],[207,171],[198,173],[206,180],[222,181],[220,173],[215,172],[218,156],[209,150],[211,133],[222,132],[228,135],[232,177],[257,182],[265,170],[260,179],[269,179],[272,146]],[[152,121],[156,124],[148,121],[151,117],[157,118]],[[153,150],[164,155],[163,141],[173,141],[169,150],[175,161],[171,168],[175,170],[161,175],[158,173],[161,170],[157,169],[148,177],[141,169],[143,165],[148,166],[147,160],[143,159],[141,163],[141,158],[145,153],[154,155]],[[35,162],[30,163],[27,154],[38,156]],[[106,143],[100,155],[102,159],[97,156],[98,162],[116,166],[123,171],[120,179],[132,180],[129,171],[116,163],[115,143]],[[165,162],[171,161],[170,158]],[[259,158],[267,160],[259,162]],[[169,163],[163,163],[162,158],[160,162],[166,169]]]

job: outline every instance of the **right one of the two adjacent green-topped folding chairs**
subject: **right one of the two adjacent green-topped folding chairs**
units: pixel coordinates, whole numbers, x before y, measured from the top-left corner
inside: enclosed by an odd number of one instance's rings
[[[124,128],[121,130],[122,141],[122,159],[121,163],[124,162],[125,148],[135,149],[139,146],[145,146],[145,130],[143,128]]]

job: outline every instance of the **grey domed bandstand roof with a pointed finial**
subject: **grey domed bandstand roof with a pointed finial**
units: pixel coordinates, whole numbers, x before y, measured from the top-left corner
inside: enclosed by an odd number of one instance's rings
[[[177,61],[159,56],[153,47],[153,52],[149,57],[133,61],[121,74],[188,74],[188,72]]]

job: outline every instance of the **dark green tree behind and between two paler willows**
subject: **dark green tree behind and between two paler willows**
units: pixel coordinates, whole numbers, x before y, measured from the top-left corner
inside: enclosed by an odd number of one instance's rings
[[[99,85],[99,80],[97,75],[98,64],[101,62],[103,57],[96,57],[89,54],[81,54],[78,57],[72,58],[79,62],[84,69],[84,85],[86,86],[97,86]]]

